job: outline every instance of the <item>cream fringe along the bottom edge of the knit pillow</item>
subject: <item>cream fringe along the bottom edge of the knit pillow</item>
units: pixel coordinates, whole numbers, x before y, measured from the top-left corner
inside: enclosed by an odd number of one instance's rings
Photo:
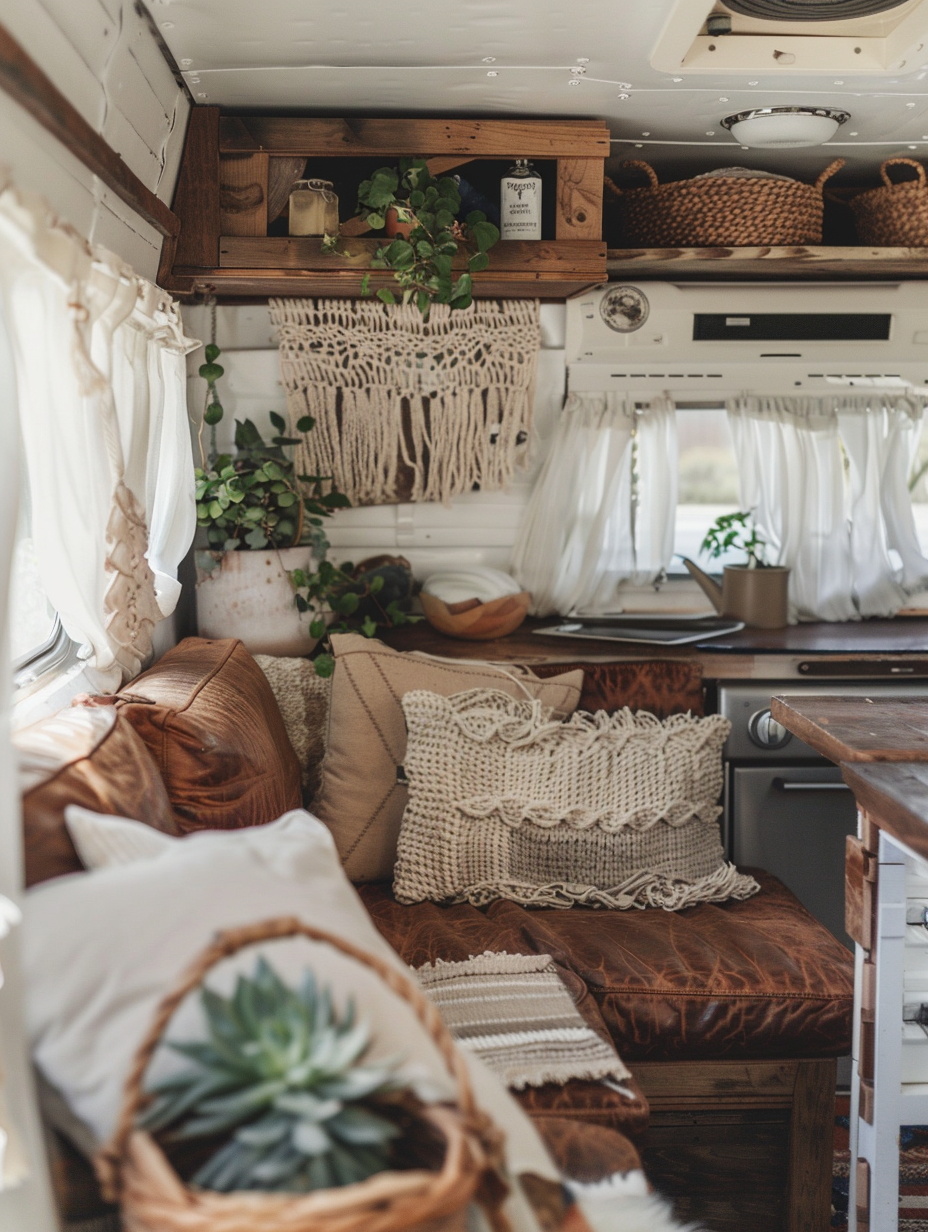
[[[738,872],[733,864],[723,864],[698,881],[680,881],[643,870],[610,890],[571,886],[567,882],[551,882],[547,886],[494,882],[486,887],[471,886],[450,902],[486,907],[504,897],[521,907],[613,907],[619,910],[627,910],[630,907],[662,907],[665,912],[679,912],[695,903],[723,903],[728,898],[751,898],[759,890],[760,886],[752,876]],[[403,901],[399,894],[397,898],[399,902]]]

